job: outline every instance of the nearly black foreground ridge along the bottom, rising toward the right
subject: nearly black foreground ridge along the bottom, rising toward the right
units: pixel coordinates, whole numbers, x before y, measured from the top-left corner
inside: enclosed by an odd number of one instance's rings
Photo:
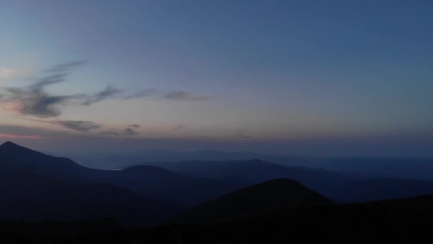
[[[370,243],[429,240],[433,195],[371,203],[278,210],[220,223],[127,229],[115,224],[57,223],[51,233],[24,222],[1,223],[1,243]],[[43,224],[41,224],[43,225]],[[24,228],[20,228],[24,227]],[[48,227],[47,227],[48,226]],[[37,230],[37,231],[35,231]],[[68,232],[69,231],[69,232]],[[424,239],[427,238],[427,239]]]

